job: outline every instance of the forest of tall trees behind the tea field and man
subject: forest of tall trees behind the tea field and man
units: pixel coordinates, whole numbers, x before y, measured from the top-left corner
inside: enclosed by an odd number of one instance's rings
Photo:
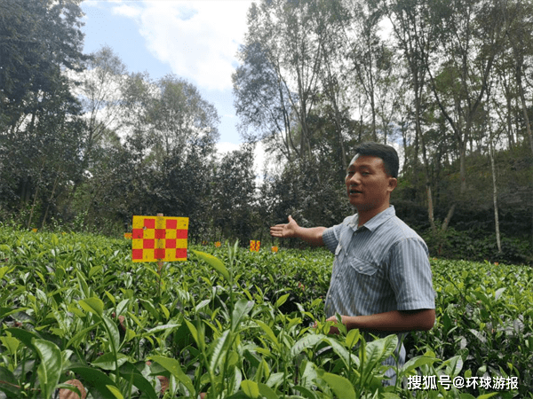
[[[392,203],[432,256],[533,264],[531,0],[251,4],[244,144],[224,156],[193,84],[81,51],[80,3],[0,1],[1,223],[122,236],[163,213],[188,216],[194,242],[267,245],[287,215],[353,213],[346,167],[372,140],[398,149]]]

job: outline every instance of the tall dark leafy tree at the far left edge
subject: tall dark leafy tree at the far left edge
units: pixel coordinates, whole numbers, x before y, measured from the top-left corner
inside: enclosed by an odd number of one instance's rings
[[[76,98],[65,70],[81,66],[79,2],[7,0],[0,4],[0,164],[8,205],[29,205],[27,225],[44,217],[75,164],[79,142]],[[44,223],[44,222],[43,222]]]

